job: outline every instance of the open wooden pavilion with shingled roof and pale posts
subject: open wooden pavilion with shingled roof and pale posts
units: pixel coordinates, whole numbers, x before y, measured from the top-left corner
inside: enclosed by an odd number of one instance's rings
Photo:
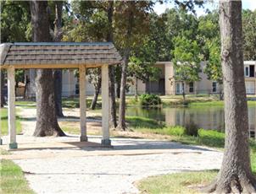
[[[79,69],[81,141],[87,141],[87,67],[101,67],[102,69],[102,144],[110,145],[109,65],[116,65],[121,62],[122,58],[111,42],[17,42],[1,44],[0,69],[7,69],[8,73],[8,147],[18,148],[15,127],[15,69]]]

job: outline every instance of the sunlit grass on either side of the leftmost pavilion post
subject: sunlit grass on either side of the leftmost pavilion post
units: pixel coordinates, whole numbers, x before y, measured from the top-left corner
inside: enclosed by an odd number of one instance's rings
[[[0,119],[1,119],[1,135],[8,135],[8,110],[6,108],[1,108],[0,110]],[[16,129],[17,134],[21,132],[21,124],[19,116],[16,116]]]

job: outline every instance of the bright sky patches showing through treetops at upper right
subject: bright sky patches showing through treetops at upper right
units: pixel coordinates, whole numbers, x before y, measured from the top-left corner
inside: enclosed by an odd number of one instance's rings
[[[214,0],[214,3],[207,3],[204,5],[205,8],[209,8],[209,10],[213,10],[215,8],[218,8],[218,1]],[[166,8],[174,8],[174,3],[156,3],[154,6],[154,11],[158,14],[164,13]],[[205,8],[196,8],[197,15],[203,15],[205,14]],[[256,9],[256,0],[242,0],[242,8],[243,9]]]

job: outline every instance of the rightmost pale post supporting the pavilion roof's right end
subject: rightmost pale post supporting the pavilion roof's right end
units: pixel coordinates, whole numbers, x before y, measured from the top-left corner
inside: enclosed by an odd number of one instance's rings
[[[102,66],[102,126],[103,126],[103,145],[111,145],[109,139],[109,66]]]

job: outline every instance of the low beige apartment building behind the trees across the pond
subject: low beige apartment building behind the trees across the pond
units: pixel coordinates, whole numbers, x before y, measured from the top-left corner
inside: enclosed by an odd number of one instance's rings
[[[206,62],[200,63],[201,70],[199,72],[200,81],[185,84],[186,94],[219,94],[222,86],[214,80],[209,80],[204,73]],[[256,94],[256,62],[244,62],[244,76],[247,94]],[[137,80],[138,94],[152,93],[161,95],[182,94],[182,84],[175,80],[175,67],[172,62],[156,62],[155,67],[161,69],[159,80],[142,82]],[[28,87],[28,94],[35,96],[35,78],[36,72],[34,70],[26,71],[26,76],[30,78],[30,85]],[[86,79],[87,80],[87,79]],[[130,84],[129,90],[126,94],[135,94],[136,86],[134,83]],[[74,70],[63,71],[63,96],[70,97],[79,94],[78,79],[75,78]],[[94,88],[92,84],[86,81],[86,94],[92,95]]]

